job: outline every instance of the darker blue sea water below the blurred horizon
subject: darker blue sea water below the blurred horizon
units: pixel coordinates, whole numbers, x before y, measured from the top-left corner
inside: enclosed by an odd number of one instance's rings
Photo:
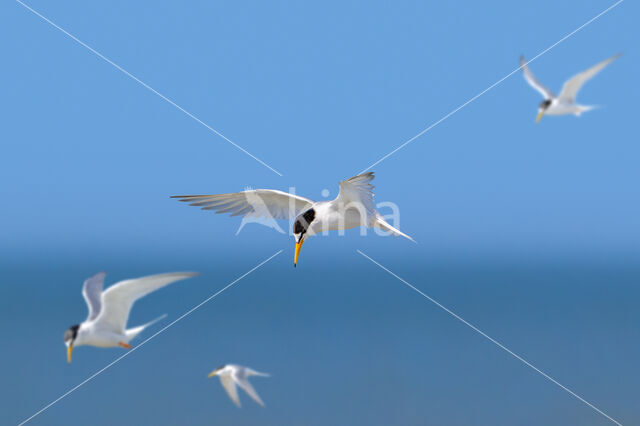
[[[611,424],[358,254],[309,247],[298,268],[285,250],[31,424]],[[65,360],[63,332],[84,319],[81,283],[99,265],[118,265],[107,284],[178,263],[202,272],[135,305],[133,325],[169,314],[140,342],[272,253],[4,265],[0,423],[124,353],[79,347]],[[637,263],[376,260],[616,420],[640,421]],[[266,408],[241,394],[238,409],[206,379],[226,362],[272,374],[253,380]]]

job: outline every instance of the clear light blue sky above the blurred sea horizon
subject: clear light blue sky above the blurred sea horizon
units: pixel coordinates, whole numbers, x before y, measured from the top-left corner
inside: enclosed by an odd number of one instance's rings
[[[246,186],[335,196],[339,180],[609,3],[31,5],[284,176],[6,3],[0,249],[20,255],[289,248],[269,230],[233,238],[236,219],[168,196]],[[534,125],[540,99],[514,75],[374,168],[377,200],[400,206],[421,247],[356,243],[404,255],[636,249],[635,7],[623,3],[531,65],[558,90],[623,52],[580,93],[602,108]]]

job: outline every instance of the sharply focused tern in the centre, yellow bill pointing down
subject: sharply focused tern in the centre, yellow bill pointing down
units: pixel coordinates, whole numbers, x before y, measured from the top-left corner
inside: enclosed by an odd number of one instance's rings
[[[215,195],[174,195],[171,198],[178,198],[192,206],[202,207],[203,210],[230,213],[231,216],[286,220],[295,218],[293,235],[296,249],[293,265],[296,266],[305,239],[325,231],[358,226],[376,227],[413,241],[413,238],[387,223],[375,209],[372,192],[374,186],[370,183],[374,177],[373,172],[369,172],[340,182],[340,193],[332,201],[314,202],[275,189],[252,189]]]

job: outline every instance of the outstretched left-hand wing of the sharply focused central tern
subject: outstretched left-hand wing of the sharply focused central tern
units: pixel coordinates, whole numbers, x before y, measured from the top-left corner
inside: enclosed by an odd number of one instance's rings
[[[202,210],[230,213],[231,216],[287,220],[295,218],[300,211],[313,204],[308,198],[275,189],[250,189],[232,194],[174,195],[171,198],[201,207]]]

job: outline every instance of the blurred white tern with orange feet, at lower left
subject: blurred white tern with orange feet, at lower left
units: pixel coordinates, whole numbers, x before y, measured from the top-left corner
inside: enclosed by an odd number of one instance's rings
[[[89,316],[84,322],[72,325],[64,333],[68,362],[71,362],[71,353],[75,346],[90,345],[102,348],[121,346],[127,349],[131,348],[129,345],[131,339],[165,316],[163,315],[138,327],[127,329],[127,320],[133,303],[161,287],[197,274],[192,272],[173,272],[150,275],[120,281],[102,291],[106,275],[105,272],[98,272],[87,279],[82,286],[82,296],[87,302]]]

